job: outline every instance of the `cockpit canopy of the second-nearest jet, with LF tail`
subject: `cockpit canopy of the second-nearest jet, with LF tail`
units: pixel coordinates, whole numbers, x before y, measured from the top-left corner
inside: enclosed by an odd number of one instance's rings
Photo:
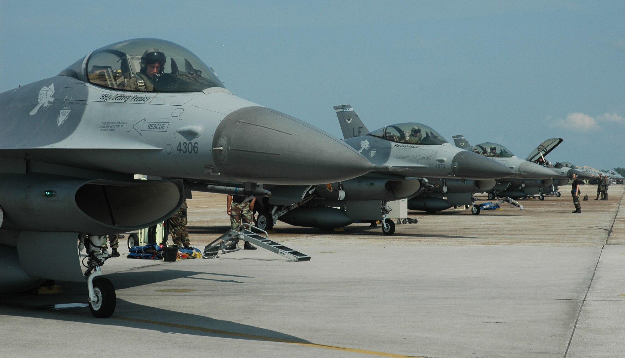
[[[367,134],[397,143],[441,145],[447,143],[437,131],[421,123],[399,123],[390,125]]]

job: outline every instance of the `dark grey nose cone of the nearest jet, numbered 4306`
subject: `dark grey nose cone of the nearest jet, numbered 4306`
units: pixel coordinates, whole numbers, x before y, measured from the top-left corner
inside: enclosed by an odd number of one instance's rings
[[[212,140],[217,169],[240,182],[310,185],[368,173],[356,150],[312,125],[266,107],[244,107],[224,118]]]

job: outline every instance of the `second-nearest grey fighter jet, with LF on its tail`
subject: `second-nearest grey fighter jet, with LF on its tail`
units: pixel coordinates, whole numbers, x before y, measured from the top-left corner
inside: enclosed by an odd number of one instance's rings
[[[272,188],[273,195],[262,201],[259,225],[271,227],[281,220],[297,226],[336,228],[356,220],[381,221],[382,232],[392,235],[394,224],[387,218],[386,203],[420,193],[429,186],[424,176],[482,182],[514,174],[496,161],[455,148],[421,123],[389,125],[369,133],[351,106],[334,106],[334,111],[345,143],[391,171],[374,171],[326,185]]]

